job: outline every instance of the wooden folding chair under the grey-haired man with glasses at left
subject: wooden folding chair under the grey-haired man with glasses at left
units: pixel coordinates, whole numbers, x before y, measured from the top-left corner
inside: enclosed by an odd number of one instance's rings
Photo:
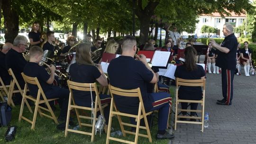
[[[21,89],[20,85],[18,84],[18,81],[17,81],[13,71],[11,70],[11,68],[9,68],[8,72],[9,72],[9,75],[12,76],[12,80],[11,80],[10,86],[9,86],[9,92],[8,92],[8,96],[7,96],[7,103],[8,103],[8,105],[11,104],[13,107],[15,107],[15,105],[13,103],[13,100],[12,100],[13,93],[20,93],[21,96],[22,96],[24,90]],[[18,90],[14,90],[15,85],[18,87]],[[27,91],[29,91],[29,90],[27,90]]]

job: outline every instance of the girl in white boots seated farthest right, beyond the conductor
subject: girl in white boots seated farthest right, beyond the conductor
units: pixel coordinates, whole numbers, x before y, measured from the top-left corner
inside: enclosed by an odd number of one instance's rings
[[[250,76],[250,62],[252,62],[252,51],[248,48],[249,43],[244,42],[244,48],[240,51],[240,63],[244,65],[245,76]]]

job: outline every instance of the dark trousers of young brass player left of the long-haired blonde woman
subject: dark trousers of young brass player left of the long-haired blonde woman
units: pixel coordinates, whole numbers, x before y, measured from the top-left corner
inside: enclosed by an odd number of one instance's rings
[[[69,90],[60,88],[58,86],[53,86],[52,90],[48,90],[45,92],[46,99],[57,99],[59,106],[61,108],[60,117],[67,116],[68,109],[68,99],[69,99]],[[43,99],[42,97],[40,99]]]

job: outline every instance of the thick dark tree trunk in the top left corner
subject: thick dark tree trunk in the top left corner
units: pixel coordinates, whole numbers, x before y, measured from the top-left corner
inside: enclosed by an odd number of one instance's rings
[[[11,0],[2,0],[2,10],[4,16],[5,42],[13,43],[14,38],[18,35],[18,13],[11,8]]]

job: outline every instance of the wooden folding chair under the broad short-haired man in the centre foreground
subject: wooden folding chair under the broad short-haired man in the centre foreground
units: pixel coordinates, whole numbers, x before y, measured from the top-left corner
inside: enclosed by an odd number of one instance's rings
[[[123,90],[123,89],[119,89],[119,88],[116,88],[116,87],[113,87],[113,86],[109,85],[109,90],[110,90],[110,94],[111,94],[112,99],[111,99],[111,105],[110,105],[110,120],[109,120],[106,144],[109,144],[110,140],[114,140],[114,141],[118,141],[118,142],[126,143],[126,144],[137,144],[138,136],[146,137],[146,138],[148,138],[149,142],[152,143],[152,138],[151,138],[151,134],[150,134],[147,118],[146,118],[146,116],[150,115],[152,112],[146,113],[145,108],[144,108],[144,104],[143,104],[143,100],[142,100],[142,96],[141,96],[141,93],[140,93],[140,89],[137,88],[137,89],[132,89],[132,90]],[[119,95],[119,96],[122,96],[122,97],[137,97],[139,99],[138,114],[137,115],[132,115],[132,114],[120,112],[117,109],[116,105],[115,105],[113,95]],[[113,108],[115,108],[115,111],[113,110]],[[123,136],[126,136],[126,134],[135,135],[135,139],[134,139],[133,142],[110,136],[112,117],[114,117],[115,115],[117,115],[117,117],[118,117],[119,125],[121,127],[121,131],[123,133]],[[121,116],[136,118],[137,125],[133,125],[133,124],[123,122],[122,119],[121,119]],[[140,120],[142,118],[144,118],[146,126],[140,126]],[[124,126],[136,127],[136,132],[134,133],[134,132],[131,132],[129,130],[125,130]],[[146,135],[139,134],[139,129],[146,129],[147,134]]]

